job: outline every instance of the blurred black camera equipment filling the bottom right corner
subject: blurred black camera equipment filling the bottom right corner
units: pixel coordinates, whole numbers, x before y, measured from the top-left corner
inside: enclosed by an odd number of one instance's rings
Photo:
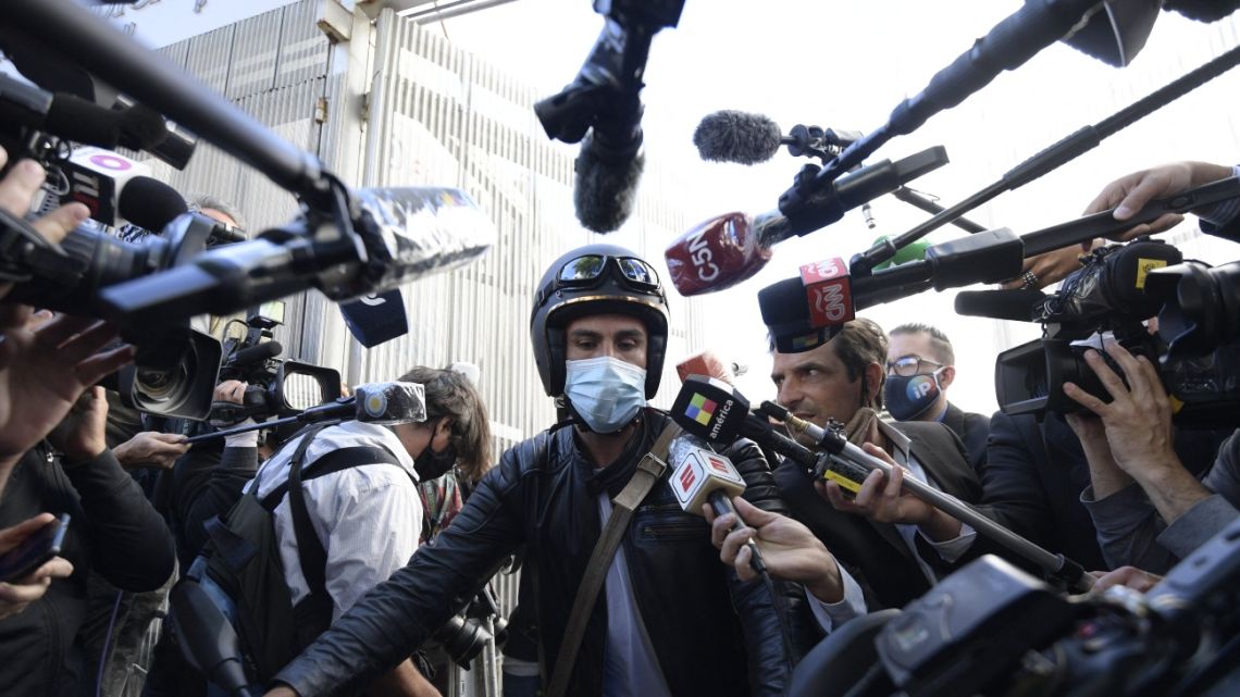
[[[1145,594],[1065,597],[982,557],[900,610],[810,651],[789,695],[1179,697],[1234,695],[1240,521]]]

